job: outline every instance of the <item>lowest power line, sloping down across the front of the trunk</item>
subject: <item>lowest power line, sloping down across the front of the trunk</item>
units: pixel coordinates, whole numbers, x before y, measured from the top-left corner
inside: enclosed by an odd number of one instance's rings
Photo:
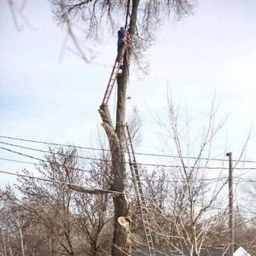
[[[2,170],[0,170],[0,173],[14,175],[14,176],[20,176],[20,177],[26,177],[26,178],[36,179],[36,180],[42,180],[42,181],[46,181],[46,182],[58,183],[58,184],[63,184],[63,185],[75,186],[75,187],[78,187],[78,188],[84,188],[86,190],[98,190],[98,191],[102,191],[102,192],[106,192],[106,193],[115,193],[115,194],[129,195],[129,196],[137,196],[136,194],[133,194],[133,193],[119,192],[119,191],[114,191],[114,190],[109,190],[109,189],[104,189],[104,188],[92,188],[92,187],[80,186],[80,185],[72,184],[72,183],[69,183],[69,182],[62,182],[62,181],[59,181],[59,180],[50,180],[50,179],[46,179],[46,178],[34,177],[34,176],[27,175],[27,174],[18,174],[18,173],[6,172],[6,171],[2,171]],[[170,202],[170,200],[168,200],[168,199],[162,199],[162,198],[157,198],[157,197],[152,197],[152,196],[144,196],[144,198]],[[175,200],[173,200],[173,201],[176,202]],[[199,204],[198,205],[195,204],[195,206],[202,207],[202,205],[199,205]],[[208,208],[217,209],[217,210],[227,210],[227,208],[221,208],[221,207],[215,207],[215,206],[209,206]],[[244,210],[237,210],[237,211],[238,212],[246,212],[246,213],[255,214],[255,212],[251,212],[251,211],[244,211]]]

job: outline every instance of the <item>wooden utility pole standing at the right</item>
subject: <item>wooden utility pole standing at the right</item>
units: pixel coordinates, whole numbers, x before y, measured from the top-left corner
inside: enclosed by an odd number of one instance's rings
[[[234,255],[234,224],[233,224],[233,167],[232,167],[232,153],[226,153],[228,156],[229,170],[228,170],[228,229],[229,229],[229,256]]]

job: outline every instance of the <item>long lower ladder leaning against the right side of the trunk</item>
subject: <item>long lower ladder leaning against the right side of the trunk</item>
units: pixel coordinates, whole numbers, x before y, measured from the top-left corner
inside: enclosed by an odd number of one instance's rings
[[[128,157],[129,157],[130,169],[132,172],[132,180],[134,182],[134,187],[135,187],[137,198],[138,198],[138,204],[140,207],[140,214],[141,214],[142,223],[144,226],[144,231],[146,234],[149,255],[156,256],[154,242],[152,239],[152,234],[151,234],[150,226],[148,223],[146,202],[145,202],[145,197],[144,197],[144,194],[142,191],[142,184],[140,182],[140,174],[138,171],[138,166],[136,163],[135,154],[134,154],[134,150],[133,150],[133,146],[132,146],[132,139],[130,136],[130,131],[129,131],[129,127],[128,127],[127,123],[124,125],[124,135],[125,135],[124,138],[125,138]]]

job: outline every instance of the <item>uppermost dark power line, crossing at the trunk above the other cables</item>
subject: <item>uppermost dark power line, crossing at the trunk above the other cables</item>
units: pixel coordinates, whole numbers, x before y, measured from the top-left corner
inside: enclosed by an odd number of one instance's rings
[[[44,145],[53,145],[53,146],[64,146],[64,147],[74,147],[74,148],[80,148],[80,149],[87,149],[87,150],[98,150],[98,151],[107,151],[110,152],[108,149],[104,148],[94,148],[94,147],[86,147],[86,146],[75,146],[75,145],[69,145],[69,144],[61,144],[61,143],[54,143],[54,142],[46,142],[46,141],[40,141],[40,140],[30,140],[30,139],[24,139],[24,138],[17,138],[17,137],[10,137],[10,136],[2,136],[0,135],[0,138],[6,138],[10,140],[19,140],[24,142],[33,142],[38,144],[44,144]],[[180,156],[174,156],[174,155],[164,155],[164,154],[152,154],[152,153],[142,153],[142,152],[134,152],[134,154],[137,155],[144,155],[144,156],[160,156],[160,157],[169,157],[169,158],[180,158]],[[198,159],[194,156],[188,156],[185,158],[189,159]],[[220,159],[220,158],[200,158],[200,160],[213,160],[213,161],[228,161],[227,159]],[[253,160],[233,160],[234,162],[246,162],[246,163],[256,163],[256,161]]]

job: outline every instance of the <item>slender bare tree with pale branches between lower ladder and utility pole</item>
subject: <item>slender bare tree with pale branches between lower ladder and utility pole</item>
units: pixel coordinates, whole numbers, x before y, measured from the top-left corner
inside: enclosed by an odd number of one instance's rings
[[[212,148],[212,142],[217,132],[222,128],[225,119],[216,122],[215,96],[208,114],[208,122],[202,128],[202,133],[197,136],[200,143],[194,158],[191,156],[189,132],[180,125],[179,107],[176,107],[172,97],[168,97],[168,122],[157,117],[164,129],[165,146],[169,148],[172,143],[178,155],[176,167],[172,171],[172,180],[176,181],[172,186],[175,190],[169,190],[169,209],[166,214],[161,207],[158,211],[165,224],[159,225],[152,219],[152,230],[169,244],[170,250],[180,255],[199,256],[211,228],[218,224],[227,215],[225,207],[220,204],[220,196],[227,184],[227,178],[223,177],[222,170],[216,173],[213,180],[207,178],[207,167]],[[188,125],[187,118],[185,124]],[[171,138],[171,141],[166,139]],[[156,204],[155,204],[156,205]],[[227,246],[228,247],[228,246]],[[225,253],[223,252],[223,255]]]

